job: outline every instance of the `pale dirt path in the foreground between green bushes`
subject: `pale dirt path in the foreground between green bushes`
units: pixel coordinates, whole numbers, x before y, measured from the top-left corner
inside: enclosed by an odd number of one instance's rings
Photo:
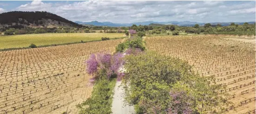
[[[112,114],[135,114],[133,106],[129,106],[124,99],[125,90],[121,81],[116,83],[112,102]]]

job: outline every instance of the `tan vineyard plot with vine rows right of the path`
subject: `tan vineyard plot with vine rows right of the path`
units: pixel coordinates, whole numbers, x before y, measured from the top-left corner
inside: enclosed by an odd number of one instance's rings
[[[255,43],[205,36],[158,36],[145,41],[149,50],[186,60],[199,75],[214,76],[217,84],[227,85],[219,92],[229,93],[234,103],[228,114],[255,114]]]

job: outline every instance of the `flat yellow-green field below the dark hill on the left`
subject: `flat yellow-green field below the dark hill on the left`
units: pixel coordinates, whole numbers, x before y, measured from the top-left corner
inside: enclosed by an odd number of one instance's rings
[[[36,45],[64,44],[72,42],[101,40],[102,37],[120,38],[124,33],[44,33],[0,36],[0,49],[28,47]]]

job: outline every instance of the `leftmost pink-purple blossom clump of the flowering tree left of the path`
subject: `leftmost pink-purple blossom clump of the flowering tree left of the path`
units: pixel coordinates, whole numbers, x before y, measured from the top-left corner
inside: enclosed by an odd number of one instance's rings
[[[98,62],[95,54],[92,54],[85,63],[87,63],[86,71],[89,75],[93,75],[98,70]]]

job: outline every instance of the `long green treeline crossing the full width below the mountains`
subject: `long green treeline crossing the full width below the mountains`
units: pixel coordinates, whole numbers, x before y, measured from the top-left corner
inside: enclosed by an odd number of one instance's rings
[[[17,27],[18,26],[18,27]],[[54,28],[30,28],[30,27],[19,27],[9,26],[0,28],[0,32],[4,32],[5,35],[14,34],[32,34],[32,33],[126,33],[129,34],[127,30],[133,29],[137,31],[139,36],[144,36],[147,34],[160,34],[166,33],[167,31],[175,32],[186,32],[195,34],[226,34],[226,35],[248,35],[255,36],[256,25],[244,23],[243,25],[237,25],[231,23],[229,26],[211,25],[205,24],[204,26],[199,26],[198,24],[187,27],[178,25],[132,25],[130,27],[107,27],[107,26],[83,26],[83,27],[54,27]]]

